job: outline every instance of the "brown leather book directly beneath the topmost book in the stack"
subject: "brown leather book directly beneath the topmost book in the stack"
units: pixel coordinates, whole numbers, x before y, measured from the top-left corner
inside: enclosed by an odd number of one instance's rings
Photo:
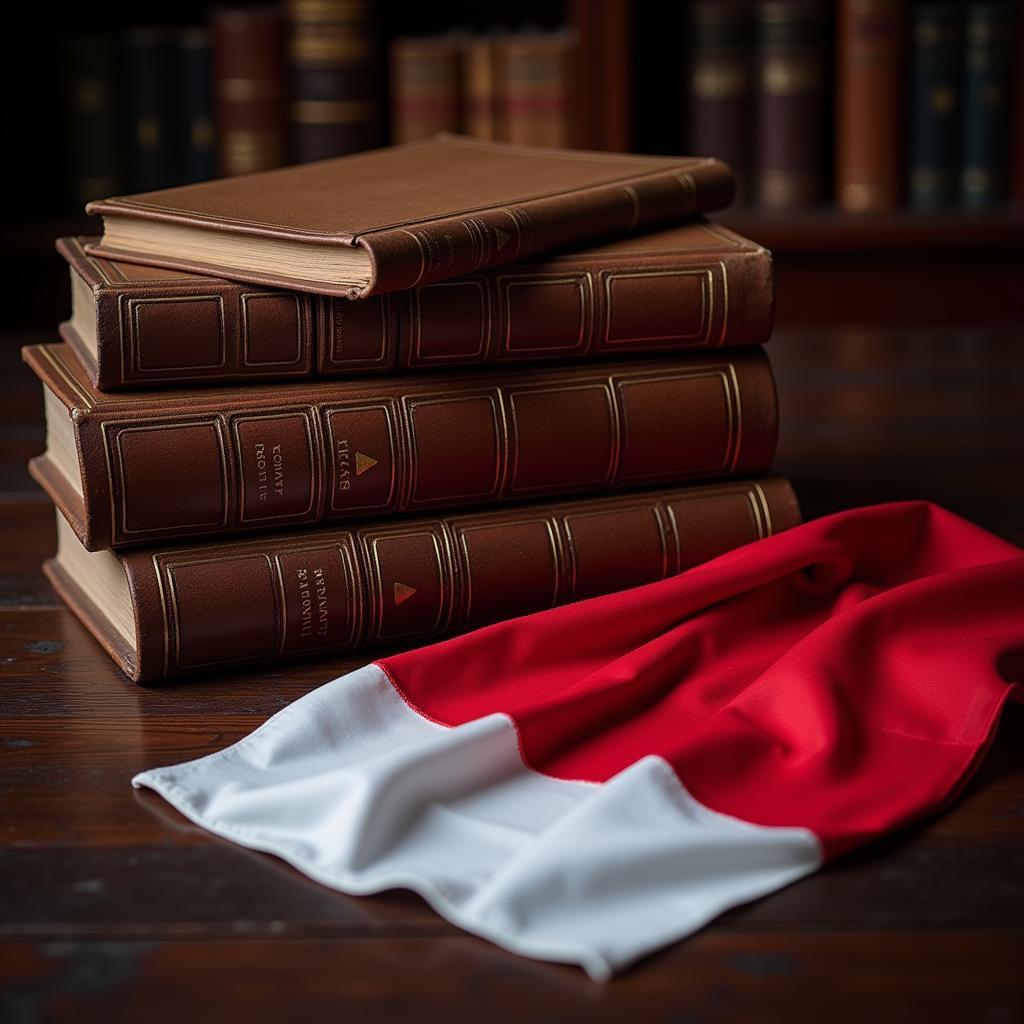
[[[690,221],[406,292],[336,299],[90,256],[61,337],[100,390],[760,344],[771,255]],[[182,330],[187,327],[187,330]]]

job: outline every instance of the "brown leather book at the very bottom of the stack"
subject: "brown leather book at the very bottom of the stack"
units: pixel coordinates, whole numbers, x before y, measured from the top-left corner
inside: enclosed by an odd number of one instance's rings
[[[44,569],[121,669],[151,682],[420,643],[662,580],[799,519],[771,477],[120,553],[86,551],[58,514]]]

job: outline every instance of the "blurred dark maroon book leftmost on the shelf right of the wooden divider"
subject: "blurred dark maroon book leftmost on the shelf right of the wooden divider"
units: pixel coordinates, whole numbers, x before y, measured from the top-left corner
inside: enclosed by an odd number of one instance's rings
[[[690,5],[689,147],[732,168],[737,202],[750,186],[751,24],[750,0]]]

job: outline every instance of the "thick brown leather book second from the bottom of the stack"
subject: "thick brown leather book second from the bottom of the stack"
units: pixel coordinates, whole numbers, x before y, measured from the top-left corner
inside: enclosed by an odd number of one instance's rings
[[[763,472],[761,348],[275,388],[96,391],[65,345],[33,472],[96,548]]]

